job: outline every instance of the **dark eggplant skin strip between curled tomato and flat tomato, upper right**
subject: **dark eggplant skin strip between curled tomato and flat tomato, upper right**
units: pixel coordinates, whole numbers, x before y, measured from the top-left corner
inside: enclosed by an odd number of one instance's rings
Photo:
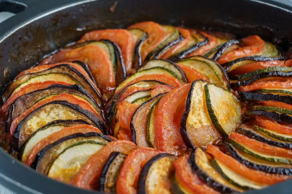
[[[261,56],[241,57],[241,58],[238,58],[236,60],[222,64],[222,66],[228,72],[230,70],[230,68],[232,67],[232,65],[236,64],[237,62],[245,61],[245,60],[251,60],[251,61],[255,61],[255,62],[266,62],[266,61],[275,61],[275,60],[283,61],[283,60],[285,60],[285,57],[284,56],[281,56],[281,57],[261,57]]]

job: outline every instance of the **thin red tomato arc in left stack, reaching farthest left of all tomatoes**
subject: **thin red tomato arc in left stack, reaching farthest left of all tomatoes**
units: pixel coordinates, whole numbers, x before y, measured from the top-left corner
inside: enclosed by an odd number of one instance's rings
[[[49,87],[50,85],[54,85],[54,84],[71,85],[70,83],[66,83],[63,81],[44,81],[44,82],[31,83],[24,86],[18,92],[14,93],[11,97],[9,97],[6,103],[1,107],[0,115],[2,116],[0,117],[0,125],[4,126],[4,122],[7,119],[10,106],[15,102],[15,100],[17,100],[18,97],[34,92],[36,90],[45,89]]]

